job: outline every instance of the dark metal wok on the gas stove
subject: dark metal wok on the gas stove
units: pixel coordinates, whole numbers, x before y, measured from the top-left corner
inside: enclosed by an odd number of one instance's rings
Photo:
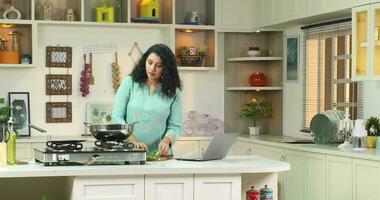
[[[85,122],[84,125],[90,129],[92,136],[99,141],[123,141],[132,135],[136,123],[93,125]]]

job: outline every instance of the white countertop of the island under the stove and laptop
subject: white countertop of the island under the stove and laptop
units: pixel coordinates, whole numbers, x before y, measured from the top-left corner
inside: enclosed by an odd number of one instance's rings
[[[154,161],[145,165],[48,166],[35,162],[0,167],[0,178],[51,176],[105,176],[138,174],[236,174],[270,173],[289,170],[288,163],[258,156],[228,156],[222,160]]]

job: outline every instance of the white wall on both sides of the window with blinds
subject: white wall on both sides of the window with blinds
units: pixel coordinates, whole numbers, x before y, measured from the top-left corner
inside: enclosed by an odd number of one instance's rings
[[[301,26],[293,26],[285,30],[286,36],[301,36]],[[285,42],[285,41],[284,41]],[[302,47],[302,38],[300,38],[300,45]],[[284,48],[286,45],[284,43]],[[286,82],[286,49],[284,49],[284,133],[283,135],[292,137],[310,137],[309,134],[300,132],[302,123],[302,94],[303,94],[303,52],[300,52],[300,70],[297,82]],[[379,81],[365,81],[363,83],[363,117],[364,119],[370,116],[380,117],[380,106],[378,101],[380,99],[380,82]]]

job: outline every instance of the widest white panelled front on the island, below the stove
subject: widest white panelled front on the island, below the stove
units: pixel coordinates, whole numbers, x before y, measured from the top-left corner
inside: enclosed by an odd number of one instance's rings
[[[75,177],[72,200],[144,200],[144,176]]]

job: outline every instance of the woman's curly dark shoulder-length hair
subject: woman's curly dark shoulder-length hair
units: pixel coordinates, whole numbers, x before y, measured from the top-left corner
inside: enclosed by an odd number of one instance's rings
[[[175,98],[176,89],[182,90],[181,79],[179,78],[177,62],[172,50],[164,44],[151,46],[140,58],[132,70],[132,80],[137,83],[145,83],[148,79],[145,63],[151,53],[155,53],[161,59],[162,78],[160,78],[162,92],[166,97]]]

